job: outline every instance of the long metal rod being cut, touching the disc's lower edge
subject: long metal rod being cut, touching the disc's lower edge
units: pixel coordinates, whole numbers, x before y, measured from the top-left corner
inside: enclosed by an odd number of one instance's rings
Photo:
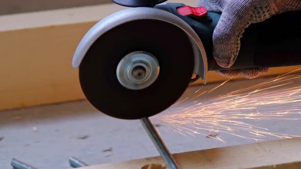
[[[147,132],[150,139],[152,139],[153,144],[155,145],[156,149],[163,157],[164,161],[166,162],[168,168],[170,169],[180,169],[177,162],[175,162],[174,158],[170,154],[169,150],[167,149],[166,145],[164,144],[162,138],[160,137],[159,133],[157,132],[155,126],[150,122],[148,118],[140,119],[140,122]]]

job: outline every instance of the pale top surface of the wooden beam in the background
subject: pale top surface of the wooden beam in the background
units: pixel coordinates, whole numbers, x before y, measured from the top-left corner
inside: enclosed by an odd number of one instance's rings
[[[126,9],[126,7],[116,4],[105,4],[81,8],[2,15],[0,16],[0,21],[4,24],[0,25],[0,32],[3,34],[5,32],[15,31],[14,33],[18,34],[18,31],[24,29],[47,29],[49,26],[60,27],[62,25],[79,23],[93,25],[104,17],[122,9]],[[73,25],[70,29],[70,31],[78,29],[78,26]],[[83,34],[85,34],[89,29],[90,27],[87,27],[87,29],[82,30]]]

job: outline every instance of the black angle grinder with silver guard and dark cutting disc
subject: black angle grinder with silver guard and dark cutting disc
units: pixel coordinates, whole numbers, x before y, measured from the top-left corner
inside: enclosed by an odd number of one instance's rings
[[[96,23],[83,37],[72,65],[82,90],[99,111],[141,119],[174,104],[208,71],[301,64],[301,12],[250,25],[231,68],[217,65],[212,35],[220,13],[166,0],[113,0],[132,7]]]

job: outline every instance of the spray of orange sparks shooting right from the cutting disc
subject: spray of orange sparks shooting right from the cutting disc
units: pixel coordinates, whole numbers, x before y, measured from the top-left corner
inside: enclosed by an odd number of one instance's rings
[[[200,100],[200,96],[204,97],[217,90],[231,79],[207,91],[202,91],[202,86],[194,92],[196,96],[175,103],[171,107],[172,114],[163,113],[152,119],[162,124],[167,132],[185,136],[203,134],[223,143],[225,140],[221,135],[205,133],[230,134],[256,142],[267,137],[297,137],[298,135],[271,132],[254,122],[301,120],[301,117],[293,116],[301,114],[301,86],[292,86],[294,82],[301,80],[300,75],[292,74],[299,70],[301,68],[207,101]]]

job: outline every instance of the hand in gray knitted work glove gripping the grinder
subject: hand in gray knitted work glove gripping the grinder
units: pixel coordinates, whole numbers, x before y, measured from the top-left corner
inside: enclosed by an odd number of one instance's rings
[[[239,53],[244,29],[273,15],[301,10],[301,0],[198,0],[197,6],[204,6],[208,12],[221,13],[213,32],[213,57],[219,66],[229,68]],[[266,72],[268,68],[218,71],[227,77],[241,74],[245,78]]]

